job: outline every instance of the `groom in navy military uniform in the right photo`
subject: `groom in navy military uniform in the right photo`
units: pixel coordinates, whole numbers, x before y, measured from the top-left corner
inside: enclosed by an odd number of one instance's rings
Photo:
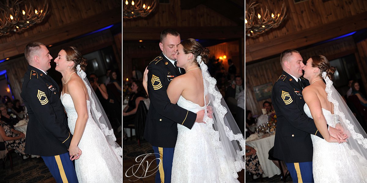
[[[281,53],[280,64],[283,73],[274,84],[272,101],[277,114],[277,128],[274,142],[274,157],[286,162],[293,182],[313,182],[313,146],[310,134],[323,138],[313,119],[305,111],[302,89],[309,85],[303,75],[302,56],[296,50]],[[329,127],[334,138],[345,140],[339,129]]]

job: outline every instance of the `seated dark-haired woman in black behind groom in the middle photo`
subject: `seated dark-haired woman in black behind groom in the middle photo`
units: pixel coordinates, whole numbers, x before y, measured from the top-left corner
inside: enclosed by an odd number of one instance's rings
[[[147,98],[145,89],[141,81],[134,80],[131,83],[131,94],[129,101],[122,113],[123,126],[133,124],[135,120],[135,113],[137,112],[139,102]],[[126,134],[123,134],[123,139],[126,138]]]

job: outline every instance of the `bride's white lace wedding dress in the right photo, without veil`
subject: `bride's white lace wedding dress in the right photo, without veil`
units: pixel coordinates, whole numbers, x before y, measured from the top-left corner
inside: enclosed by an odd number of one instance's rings
[[[307,104],[305,113],[312,118]],[[335,127],[338,116],[322,109],[327,124]],[[366,169],[360,170],[356,166],[356,153],[350,150],[348,143],[329,143],[311,134],[313,144],[312,172],[315,182],[365,182]],[[367,162],[366,162],[367,163]],[[363,178],[364,177],[364,178]]]

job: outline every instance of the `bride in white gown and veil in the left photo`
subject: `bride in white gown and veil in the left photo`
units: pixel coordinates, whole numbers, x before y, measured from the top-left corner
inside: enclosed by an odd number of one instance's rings
[[[73,134],[69,154],[78,181],[121,183],[122,149],[86,78],[87,60],[75,47],[65,47],[54,62],[63,76],[61,102]]]

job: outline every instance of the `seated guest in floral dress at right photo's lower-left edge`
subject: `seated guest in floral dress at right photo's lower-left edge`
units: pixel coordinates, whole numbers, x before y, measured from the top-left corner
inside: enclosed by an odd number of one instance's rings
[[[260,177],[263,173],[261,165],[259,163],[259,158],[256,155],[256,150],[250,146],[246,145],[246,172]]]

